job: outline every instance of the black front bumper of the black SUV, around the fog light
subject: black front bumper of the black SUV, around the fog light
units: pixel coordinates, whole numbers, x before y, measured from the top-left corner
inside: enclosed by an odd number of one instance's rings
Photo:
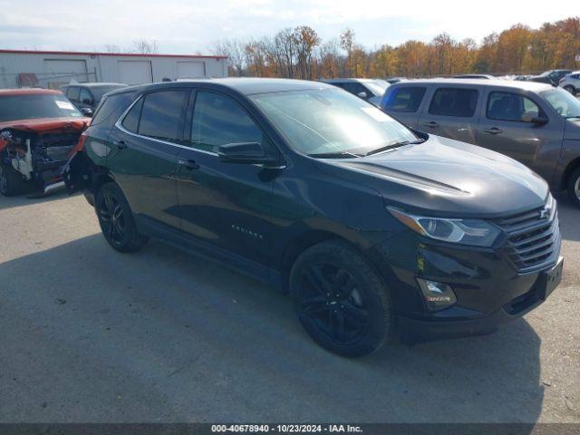
[[[546,300],[561,279],[563,264],[559,238],[554,256],[526,272],[517,269],[501,246],[451,246],[403,232],[375,248],[389,265],[385,275],[402,343],[494,333]],[[431,313],[418,277],[449,285],[456,304]]]

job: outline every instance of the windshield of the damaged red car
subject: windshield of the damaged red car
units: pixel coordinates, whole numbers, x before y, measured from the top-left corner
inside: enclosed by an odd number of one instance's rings
[[[0,96],[0,122],[37,118],[82,117],[63,94]]]

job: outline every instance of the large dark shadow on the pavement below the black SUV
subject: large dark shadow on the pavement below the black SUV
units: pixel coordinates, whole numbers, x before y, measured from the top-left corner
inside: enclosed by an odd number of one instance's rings
[[[160,242],[122,255],[83,237],[0,276],[0,420],[535,422],[542,408],[525,320],[349,360],[284,295]]]

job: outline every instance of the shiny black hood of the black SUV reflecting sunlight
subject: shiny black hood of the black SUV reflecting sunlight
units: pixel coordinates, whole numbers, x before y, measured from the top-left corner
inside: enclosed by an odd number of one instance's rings
[[[379,191],[387,206],[434,217],[506,216],[543,206],[548,194],[546,181],[517,161],[433,135],[368,157],[316,163]]]

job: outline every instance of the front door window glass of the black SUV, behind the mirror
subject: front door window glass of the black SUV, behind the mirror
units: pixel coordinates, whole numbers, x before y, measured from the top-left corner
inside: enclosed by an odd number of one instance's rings
[[[191,144],[217,152],[227,143],[262,144],[262,131],[237,102],[215,92],[198,92],[191,122]]]

